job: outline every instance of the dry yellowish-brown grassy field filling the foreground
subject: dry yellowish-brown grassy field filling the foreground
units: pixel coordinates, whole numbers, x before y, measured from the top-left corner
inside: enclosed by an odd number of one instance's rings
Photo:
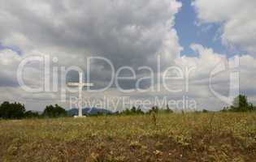
[[[0,161],[255,161],[256,113],[0,121]]]

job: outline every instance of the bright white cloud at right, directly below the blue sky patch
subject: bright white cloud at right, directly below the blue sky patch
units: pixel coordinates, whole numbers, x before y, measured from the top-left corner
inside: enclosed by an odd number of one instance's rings
[[[210,91],[210,77],[212,77],[212,87],[223,96],[228,96],[230,91],[230,76],[233,72],[239,72],[239,90],[241,94],[249,96],[249,100],[255,103],[256,88],[256,59],[250,55],[242,55],[238,57],[239,66],[236,69],[228,69],[229,65],[234,65],[234,60],[228,59],[225,55],[215,53],[213,49],[205,48],[202,45],[191,45],[194,51],[197,51],[198,57],[183,57],[176,59],[178,66],[196,66],[196,70],[189,77],[189,92],[188,96],[193,96],[198,101],[199,108],[221,109],[219,105],[225,103],[217,98]],[[215,68],[223,63],[226,65],[226,70],[217,75],[210,76],[210,73]],[[209,102],[210,99],[211,101]]]

